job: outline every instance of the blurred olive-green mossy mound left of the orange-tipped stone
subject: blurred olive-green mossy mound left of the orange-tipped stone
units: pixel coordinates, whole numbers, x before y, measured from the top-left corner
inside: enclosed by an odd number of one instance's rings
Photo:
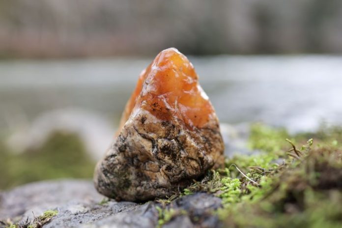
[[[46,179],[92,178],[95,167],[79,137],[61,132],[22,154],[0,141],[0,158],[0,189]]]

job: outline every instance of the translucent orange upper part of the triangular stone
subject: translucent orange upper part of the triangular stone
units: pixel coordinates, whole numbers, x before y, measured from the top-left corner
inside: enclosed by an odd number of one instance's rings
[[[175,48],[161,53],[142,71],[120,121],[119,131],[135,111],[143,109],[161,120],[174,117],[187,127],[201,128],[215,118],[192,63]]]

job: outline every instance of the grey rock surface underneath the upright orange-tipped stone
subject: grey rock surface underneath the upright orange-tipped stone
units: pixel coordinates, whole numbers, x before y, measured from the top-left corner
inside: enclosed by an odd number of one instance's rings
[[[158,202],[137,204],[103,199],[96,193],[91,181],[59,180],[24,185],[0,193],[0,220],[26,220],[46,210],[59,213],[44,228],[155,228],[158,224]],[[221,206],[221,199],[205,193],[185,196],[172,201],[166,209],[179,213],[165,228],[218,227],[212,211]],[[33,214],[32,214],[33,212]]]

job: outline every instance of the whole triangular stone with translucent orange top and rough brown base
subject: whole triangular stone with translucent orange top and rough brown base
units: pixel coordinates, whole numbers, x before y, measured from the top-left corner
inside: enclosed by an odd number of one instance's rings
[[[219,121],[194,66],[169,48],[142,71],[117,137],[95,170],[116,200],[165,198],[224,162]]]

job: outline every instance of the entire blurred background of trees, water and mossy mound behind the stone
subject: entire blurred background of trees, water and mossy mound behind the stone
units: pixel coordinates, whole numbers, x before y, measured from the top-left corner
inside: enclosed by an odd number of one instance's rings
[[[0,0],[0,189],[91,178],[169,47],[193,62],[224,134],[342,123],[341,0]]]

